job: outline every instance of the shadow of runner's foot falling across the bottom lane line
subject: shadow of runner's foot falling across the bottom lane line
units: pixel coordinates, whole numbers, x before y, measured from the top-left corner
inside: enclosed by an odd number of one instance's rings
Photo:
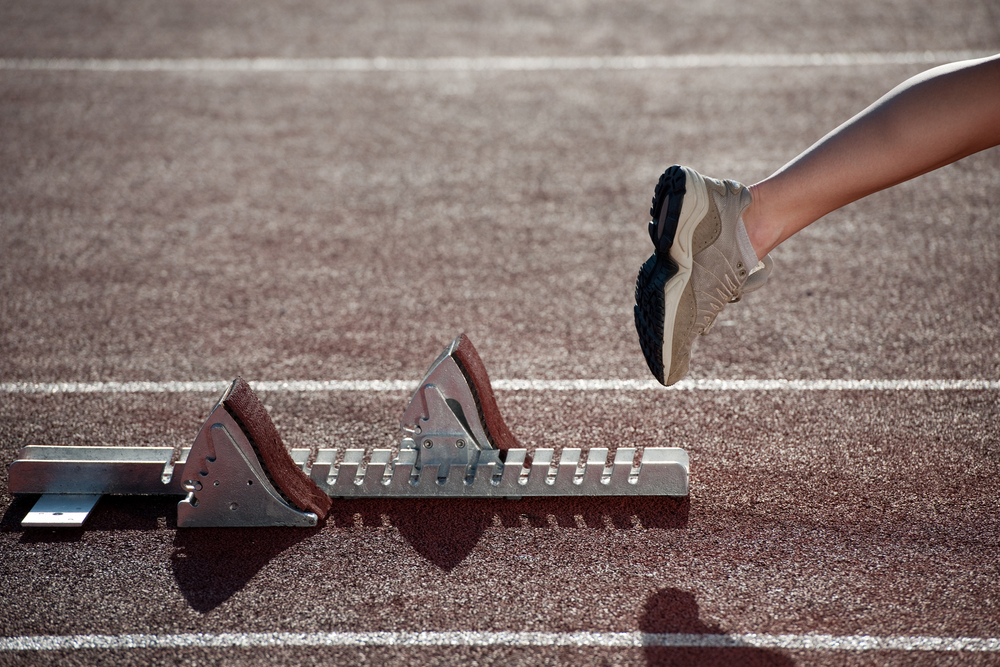
[[[639,629],[652,635],[643,649],[650,667],[787,667],[795,664],[783,653],[750,646],[670,646],[675,639],[680,639],[671,635],[725,634],[717,625],[699,620],[694,595],[677,588],[663,588],[649,596],[639,619]]]

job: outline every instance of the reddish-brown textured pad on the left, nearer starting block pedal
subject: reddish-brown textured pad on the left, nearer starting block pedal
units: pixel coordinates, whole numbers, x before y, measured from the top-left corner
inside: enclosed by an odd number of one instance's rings
[[[274,487],[299,509],[326,517],[330,498],[292,460],[263,403],[243,378],[236,378],[223,404],[253,445]]]

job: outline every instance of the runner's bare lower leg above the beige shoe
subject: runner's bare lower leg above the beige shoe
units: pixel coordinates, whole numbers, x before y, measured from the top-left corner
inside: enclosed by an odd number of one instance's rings
[[[880,100],[751,186],[763,257],[841,206],[1000,144],[1000,55],[943,65]]]

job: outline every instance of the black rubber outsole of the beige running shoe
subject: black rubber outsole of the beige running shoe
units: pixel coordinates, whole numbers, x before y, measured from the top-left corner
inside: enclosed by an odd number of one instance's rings
[[[670,246],[674,242],[681,205],[684,201],[686,175],[683,169],[674,165],[660,176],[653,195],[653,206],[649,209],[652,217],[649,235],[656,246],[656,252],[639,269],[635,280],[635,330],[639,334],[639,346],[646,358],[646,365],[660,384],[666,384],[663,372],[663,323],[665,304],[663,288],[677,275],[677,264],[670,259]],[[663,228],[659,228],[660,213],[666,203],[667,212]],[[659,232],[659,233],[658,233]]]

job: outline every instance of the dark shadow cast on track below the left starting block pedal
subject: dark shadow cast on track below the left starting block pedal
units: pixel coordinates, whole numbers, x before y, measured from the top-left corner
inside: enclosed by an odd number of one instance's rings
[[[321,529],[178,530],[170,556],[174,579],[192,609],[211,611],[246,586],[272,558]],[[282,584],[279,581],[274,585]]]

